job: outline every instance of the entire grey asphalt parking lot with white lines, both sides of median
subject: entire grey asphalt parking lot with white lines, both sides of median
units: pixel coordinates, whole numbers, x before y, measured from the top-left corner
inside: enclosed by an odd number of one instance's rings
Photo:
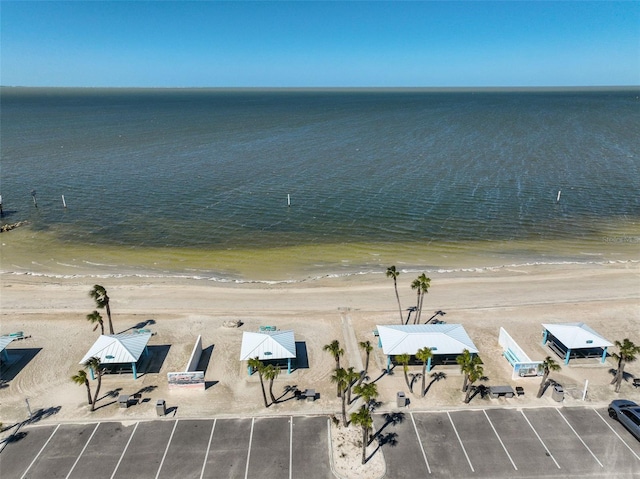
[[[640,477],[640,443],[606,408],[374,416],[386,478]],[[331,478],[326,416],[26,426],[3,479]]]

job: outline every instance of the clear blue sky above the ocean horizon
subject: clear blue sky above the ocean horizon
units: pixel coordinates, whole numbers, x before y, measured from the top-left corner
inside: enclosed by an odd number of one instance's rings
[[[640,84],[640,2],[0,3],[0,83]]]

